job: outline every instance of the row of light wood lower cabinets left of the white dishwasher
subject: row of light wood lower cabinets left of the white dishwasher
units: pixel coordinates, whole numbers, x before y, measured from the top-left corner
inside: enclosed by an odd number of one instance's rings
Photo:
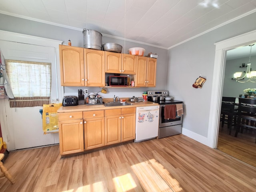
[[[136,107],[58,113],[60,154],[135,139]]]

